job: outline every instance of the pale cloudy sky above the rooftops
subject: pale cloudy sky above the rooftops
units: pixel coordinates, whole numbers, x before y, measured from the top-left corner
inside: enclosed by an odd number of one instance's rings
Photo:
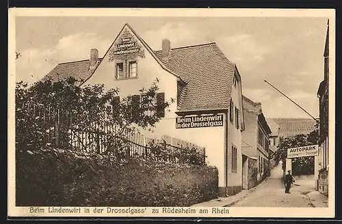
[[[58,63],[103,57],[125,23],[153,50],[216,42],[237,65],[244,96],[261,102],[265,117],[307,117],[265,79],[319,116],[328,18],[310,17],[16,17],[16,81],[40,80]]]

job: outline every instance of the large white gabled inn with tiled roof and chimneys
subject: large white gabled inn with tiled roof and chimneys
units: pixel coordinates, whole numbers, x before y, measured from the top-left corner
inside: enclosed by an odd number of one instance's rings
[[[142,130],[144,135],[169,135],[205,146],[208,165],[219,171],[219,195],[241,191],[241,76],[215,43],[171,48],[170,41],[163,40],[161,50],[153,51],[126,24],[102,59],[92,49],[90,60],[59,64],[45,79],[64,76],[81,78],[79,85],[118,87],[120,97],[137,99],[139,89],[158,79],[157,102],[176,100],[153,132]]]

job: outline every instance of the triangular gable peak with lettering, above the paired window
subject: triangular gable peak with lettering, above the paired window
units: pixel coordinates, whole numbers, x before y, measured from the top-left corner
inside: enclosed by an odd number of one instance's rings
[[[126,27],[109,51],[109,61],[131,60],[145,57],[144,48],[137,42],[134,34]]]

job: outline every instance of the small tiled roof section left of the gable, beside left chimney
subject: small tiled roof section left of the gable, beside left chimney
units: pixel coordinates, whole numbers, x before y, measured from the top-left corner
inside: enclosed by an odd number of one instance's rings
[[[102,59],[98,59],[97,66]],[[51,81],[57,81],[66,79],[70,76],[79,80],[78,85],[83,84],[94,72],[94,68],[90,69],[90,60],[72,61],[66,63],[60,63],[51,72],[42,78],[41,81],[50,79]]]

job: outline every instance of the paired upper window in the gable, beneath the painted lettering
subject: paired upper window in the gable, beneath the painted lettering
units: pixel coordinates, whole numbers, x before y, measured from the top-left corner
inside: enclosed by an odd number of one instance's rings
[[[118,61],[115,67],[115,79],[131,79],[137,77],[137,61]]]

